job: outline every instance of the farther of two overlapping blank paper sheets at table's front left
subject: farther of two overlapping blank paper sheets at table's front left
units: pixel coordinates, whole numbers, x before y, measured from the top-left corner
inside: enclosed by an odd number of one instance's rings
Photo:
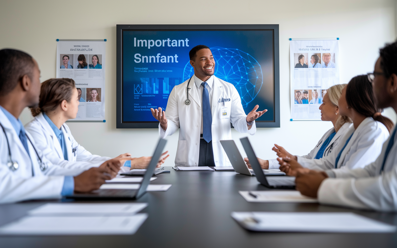
[[[28,213],[30,215],[131,215],[146,206],[147,203],[47,203]]]

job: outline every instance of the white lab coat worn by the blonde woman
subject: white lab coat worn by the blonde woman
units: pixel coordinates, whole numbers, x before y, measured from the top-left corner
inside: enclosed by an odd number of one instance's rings
[[[353,125],[353,123],[345,123],[342,127],[339,128],[337,133],[331,139],[330,144],[326,147],[323,153],[323,158],[329,156],[333,150],[339,145],[339,141],[341,140],[341,136],[345,135],[347,130]],[[299,163],[304,163],[303,161],[311,160],[316,157],[318,151],[320,150],[321,146],[323,145],[324,141],[335,131],[335,128],[331,128],[328,130],[318,141],[317,145],[311,150],[307,155],[297,156]],[[278,169],[280,167],[277,159],[269,160],[269,169]]]

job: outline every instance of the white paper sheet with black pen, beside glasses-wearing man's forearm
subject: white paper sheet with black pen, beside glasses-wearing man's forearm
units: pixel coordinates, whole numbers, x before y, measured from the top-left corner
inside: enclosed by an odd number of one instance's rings
[[[239,191],[239,193],[247,202],[318,202],[317,198],[303,196],[297,190]]]

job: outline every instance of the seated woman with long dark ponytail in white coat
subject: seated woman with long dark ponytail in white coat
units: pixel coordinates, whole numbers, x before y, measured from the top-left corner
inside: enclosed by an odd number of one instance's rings
[[[353,77],[339,98],[339,112],[350,117],[353,126],[341,138],[337,152],[325,158],[298,162],[278,158],[281,171],[295,176],[297,171],[307,168],[356,169],[375,161],[393,128],[393,122],[382,116],[381,111],[375,105],[374,92],[367,75]]]

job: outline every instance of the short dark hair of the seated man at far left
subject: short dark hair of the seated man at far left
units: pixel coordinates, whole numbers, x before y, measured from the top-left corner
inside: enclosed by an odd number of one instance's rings
[[[15,49],[0,50],[0,96],[10,93],[24,75],[32,79],[34,67],[32,56],[25,52]]]

